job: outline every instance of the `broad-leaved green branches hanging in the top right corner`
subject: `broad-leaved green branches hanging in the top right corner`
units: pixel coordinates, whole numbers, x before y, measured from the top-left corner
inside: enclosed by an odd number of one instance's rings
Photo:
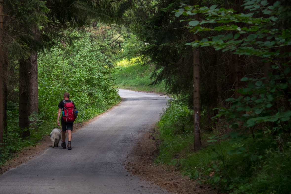
[[[184,8],[175,10],[175,15],[195,15],[196,13],[202,14],[204,17],[200,21],[187,19],[180,21],[189,21],[190,31],[197,33],[201,31],[223,31],[229,32],[227,35],[217,35],[203,38],[200,41],[188,43],[188,45],[197,46],[213,46],[215,50],[223,49],[223,51],[233,51],[239,55],[255,55],[260,57],[267,57],[271,60],[278,57],[279,48],[291,44],[290,29],[278,30],[268,29],[266,25],[272,24],[278,18],[275,16],[253,17],[258,13],[271,14],[272,10],[280,6],[280,2],[276,1],[273,6],[264,1],[245,1],[243,5],[245,9],[250,9],[252,13],[236,14],[233,9],[216,8],[217,6],[199,7],[199,6],[186,6]],[[217,23],[219,26],[213,28],[206,27],[205,24]],[[235,25],[235,23],[239,23]],[[244,27],[241,27],[244,26]],[[246,35],[243,35],[245,34]],[[267,41],[265,41],[267,39]],[[269,48],[276,48],[276,52],[268,52]],[[290,53],[281,54],[280,57],[290,56]]]

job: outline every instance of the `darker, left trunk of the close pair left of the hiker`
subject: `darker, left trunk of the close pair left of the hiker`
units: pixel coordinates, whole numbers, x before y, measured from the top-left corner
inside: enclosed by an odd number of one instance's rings
[[[28,112],[28,67],[30,58],[22,58],[19,62],[19,128],[22,129],[22,137],[29,133]]]

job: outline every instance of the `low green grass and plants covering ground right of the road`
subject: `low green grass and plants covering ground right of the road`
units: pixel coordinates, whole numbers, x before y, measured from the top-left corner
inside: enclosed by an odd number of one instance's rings
[[[251,133],[233,131],[229,137],[213,141],[221,132],[203,130],[203,148],[194,153],[192,114],[178,101],[168,103],[158,123],[156,135],[162,143],[156,164],[176,165],[191,179],[223,192],[291,192],[290,141],[280,148],[278,137],[260,130],[255,138]],[[239,138],[241,141],[235,141]]]

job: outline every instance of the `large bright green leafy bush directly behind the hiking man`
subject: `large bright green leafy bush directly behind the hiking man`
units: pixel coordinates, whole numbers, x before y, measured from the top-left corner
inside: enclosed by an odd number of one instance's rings
[[[90,33],[71,36],[75,39],[65,48],[54,47],[39,57],[39,110],[46,120],[56,119],[64,92],[70,93],[78,109],[77,122],[104,112],[120,99],[114,69]]]

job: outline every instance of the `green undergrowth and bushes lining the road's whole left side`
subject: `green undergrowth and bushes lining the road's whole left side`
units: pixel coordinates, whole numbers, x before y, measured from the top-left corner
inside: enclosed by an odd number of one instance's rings
[[[38,114],[30,126],[30,137],[22,138],[18,127],[18,103],[8,100],[7,127],[4,130],[0,165],[25,146],[57,127],[58,103],[64,92],[70,93],[78,109],[75,122],[93,118],[120,101],[114,81],[113,65],[93,40],[91,33],[74,31],[74,41],[65,47],[60,44],[38,56]],[[16,90],[17,92],[17,90]]]

